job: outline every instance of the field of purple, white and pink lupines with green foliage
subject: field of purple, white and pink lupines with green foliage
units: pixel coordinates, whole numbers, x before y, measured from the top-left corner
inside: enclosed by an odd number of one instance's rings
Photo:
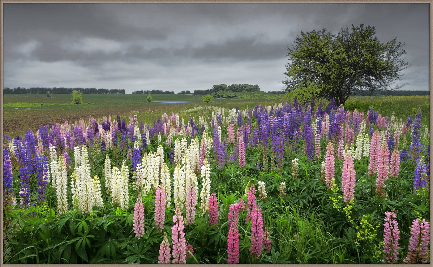
[[[427,108],[334,103],[6,131],[4,263],[429,263]]]

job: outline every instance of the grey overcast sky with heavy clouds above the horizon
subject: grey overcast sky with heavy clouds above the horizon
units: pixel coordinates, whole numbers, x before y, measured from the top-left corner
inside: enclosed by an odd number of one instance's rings
[[[429,90],[429,5],[3,3],[4,87],[281,90],[301,31],[377,27],[404,42],[405,90]]]

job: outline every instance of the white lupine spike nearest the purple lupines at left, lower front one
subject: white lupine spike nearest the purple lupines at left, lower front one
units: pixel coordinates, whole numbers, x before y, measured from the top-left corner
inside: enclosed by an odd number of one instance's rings
[[[68,212],[68,173],[66,172],[66,163],[63,156],[59,157],[58,162],[52,161],[52,163],[53,176],[56,177],[57,210],[58,215],[61,215]]]

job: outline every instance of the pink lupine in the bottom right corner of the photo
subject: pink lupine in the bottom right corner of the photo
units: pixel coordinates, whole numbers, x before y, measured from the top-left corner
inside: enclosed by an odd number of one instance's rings
[[[410,234],[407,256],[403,262],[407,264],[417,264],[419,262],[426,264],[430,244],[429,222],[425,219],[421,221],[420,218],[412,221]]]

